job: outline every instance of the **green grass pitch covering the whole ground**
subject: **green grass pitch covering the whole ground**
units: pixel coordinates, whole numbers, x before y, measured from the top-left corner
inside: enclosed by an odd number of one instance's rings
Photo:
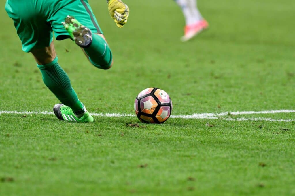
[[[210,28],[187,43],[179,41],[184,19],[172,0],[126,0],[122,29],[105,1],[89,2],[113,68],[95,68],[70,40],[55,46],[90,112],[133,114],[135,97],[148,87],[169,93],[173,115],[294,109],[292,0],[200,0]],[[135,116],[78,124],[8,114],[51,112],[59,101],[21,51],[4,8],[0,16],[0,195],[295,195],[291,111],[161,125]]]

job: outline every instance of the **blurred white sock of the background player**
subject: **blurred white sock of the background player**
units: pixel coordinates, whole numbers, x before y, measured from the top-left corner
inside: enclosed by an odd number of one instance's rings
[[[196,17],[196,13],[195,11],[191,11],[191,6],[188,2],[190,0],[175,0],[175,2],[181,7],[182,12],[183,12],[183,16],[185,18],[186,21],[186,25],[191,25],[196,23],[197,21],[199,21],[199,18]],[[192,1],[196,1],[196,0],[192,0]],[[196,2],[195,2],[196,4]],[[196,9],[196,7],[194,7],[194,9]]]

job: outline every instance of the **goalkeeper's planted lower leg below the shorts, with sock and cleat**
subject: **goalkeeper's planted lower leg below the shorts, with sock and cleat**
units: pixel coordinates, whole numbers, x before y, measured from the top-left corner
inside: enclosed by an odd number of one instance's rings
[[[78,99],[68,75],[58,64],[53,42],[48,47],[33,48],[31,52],[45,85],[63,103],[55,105],[55,115],[60,120],[92,122],[93,117]]]

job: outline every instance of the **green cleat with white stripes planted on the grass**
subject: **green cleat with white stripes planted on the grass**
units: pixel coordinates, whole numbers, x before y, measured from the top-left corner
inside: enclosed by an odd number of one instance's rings
[[[83,116],[81,116],[80,118],[78,118],[73,110],[66,106],[66,105],[63,105],[63,104],[56,104],[54,107],[53,107],[53,112],[54,114],[56,115],[56,117],[60,120],[67,120],[67,121],[70,121],[70,122],[82,122],[82,123],[89,123],[89,122],[93,122],[93,117],[91,116],[91,114],[86,111],[84,113]]]

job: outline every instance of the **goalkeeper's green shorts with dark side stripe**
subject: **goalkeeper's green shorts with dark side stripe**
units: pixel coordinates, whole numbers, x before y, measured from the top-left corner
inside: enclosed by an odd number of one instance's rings
[[[102,33],[88,0],[7,0],[5,10],[14,21],[25,52],[50,46],[53,31],[56,40],[70,38],[62,24],[68,15],[93,33]]]

